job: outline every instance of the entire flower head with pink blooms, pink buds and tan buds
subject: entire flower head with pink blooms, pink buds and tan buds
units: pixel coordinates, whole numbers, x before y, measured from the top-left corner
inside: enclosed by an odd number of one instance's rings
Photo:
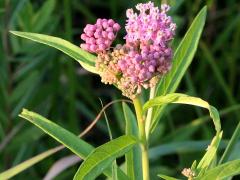
[[[110,48],[120,25],[112,19],[98,19],[88,24],[81,38],[81,48],[97,53],[96,68],[102,82],[116,85],[123,95],[133,99],[142,88],[156,85],[171,69],[170,42],[175,35],[176,24],[167,15],[170,7],[155,7],[152,2],[137,4],[134,12],[126,12],[125,44]],[[111,49],[111,50],[110,50]]]

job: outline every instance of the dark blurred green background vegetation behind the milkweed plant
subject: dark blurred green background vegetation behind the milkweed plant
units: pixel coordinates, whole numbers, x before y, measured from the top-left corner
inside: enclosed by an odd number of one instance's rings
[[[18,117],[23,107],[36,111],[79,134],[103,104],[122,98],[100,77],[83,70],[63,53],[9,34],[28,31],[62,37],[79,45],[80,34],[96,18],[113,18],[122,25],[117,40],[123,42],[125,11],[140,0],[0,0],[0,172],[58,145],[41,130]],[[154,1],[160,5],[161,1]],[[240,121],[240,1],[165,0],[177,23],[176,47],[193,18],[208,6],[207,23],[189,70],[178,92],[199,96],[220,110],[224,141]],[[106,111],[113,137],[124,133],[121,103]],[[151,138],[152,179],[156,174],[179,176],[199,159],[214,136],[207,112],[190,106],[171,105]],[[84,139],[95,146],[109,140],[102,117]],[[232,158],[240,158],[239,146]],[[63,150],[13,179],[43,179],[62,157]],[[73,165],[55,179],[71,179]],[[155,176],[154,176],[155,175]],[[181,176],[180,176],[181,177]],[[236,178],[237,179],[237,178]]]

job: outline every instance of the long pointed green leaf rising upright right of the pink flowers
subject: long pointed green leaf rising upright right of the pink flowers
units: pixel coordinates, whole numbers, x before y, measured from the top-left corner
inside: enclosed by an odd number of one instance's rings
[[[172,69],[157,85],[156,96],[176,91],[197,50],[198,42],[206,20],[206,13],[207,7],[205,6],[194,19],[174,54]],[[156,128],[163,110],[164,107],[154,108],[151,132]]]

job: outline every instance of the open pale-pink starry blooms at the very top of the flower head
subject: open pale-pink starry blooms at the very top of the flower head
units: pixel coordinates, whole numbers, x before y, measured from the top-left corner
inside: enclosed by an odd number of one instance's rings
[[[154,7],[152,2],[138,4],[136,9],[139,14],[133,9],[127,10],[127,35],[125,39],[127,43],[146,43],[150,41],[153,45],[166,46],[166,43],[173,39],[176,24],[172,22],[167,12],[170,7],[166,4],[161,6],[161,11],[158,7]]]

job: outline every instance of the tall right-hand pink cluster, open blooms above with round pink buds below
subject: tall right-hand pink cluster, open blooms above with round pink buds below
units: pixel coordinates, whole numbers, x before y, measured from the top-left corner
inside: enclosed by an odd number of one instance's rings
[[[169,71],[172,59],[169,41],[173,39],[176,25],[166,15],[170,9],[167,5],[162,5],[161,11],[152,2],[138,4],[136,8],[139,14],[133,9],[127,10],[125,36],[126,44],[134,48],[119,61],[119,66],[133,83],[143,84]]]

